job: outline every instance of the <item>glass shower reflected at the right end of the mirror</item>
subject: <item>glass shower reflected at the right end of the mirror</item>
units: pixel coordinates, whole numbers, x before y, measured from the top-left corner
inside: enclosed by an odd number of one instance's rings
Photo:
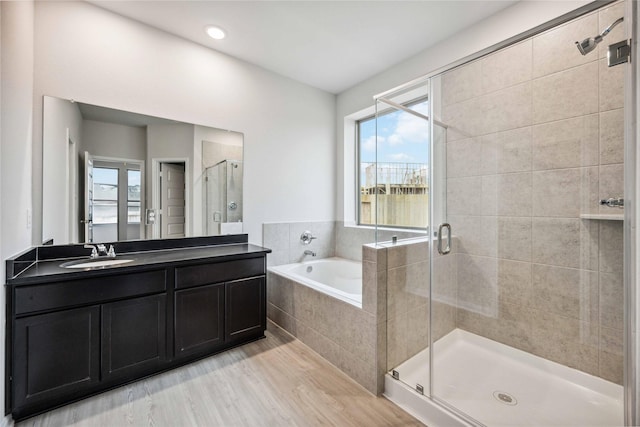
[[[226,159],[205,170],[208,235],[242,233],[242,162]]]

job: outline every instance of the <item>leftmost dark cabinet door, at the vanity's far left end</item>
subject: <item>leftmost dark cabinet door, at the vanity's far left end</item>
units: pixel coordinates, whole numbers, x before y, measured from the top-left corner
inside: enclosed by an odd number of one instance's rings
[[[99,381],[98,306],[17,319],[13,407],[79,397]]]

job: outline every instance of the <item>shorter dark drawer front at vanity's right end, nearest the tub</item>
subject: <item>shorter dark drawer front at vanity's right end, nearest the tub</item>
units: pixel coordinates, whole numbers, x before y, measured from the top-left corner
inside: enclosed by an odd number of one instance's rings
[[[176,288],[228,282],[265,274],[264,257],[176,268]]]

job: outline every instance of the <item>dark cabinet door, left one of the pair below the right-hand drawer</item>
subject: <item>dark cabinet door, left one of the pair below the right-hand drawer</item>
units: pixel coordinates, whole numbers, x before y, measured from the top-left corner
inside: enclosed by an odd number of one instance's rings
[[[224,345],[224,284],[175,293],[176,357],[206,354]]]

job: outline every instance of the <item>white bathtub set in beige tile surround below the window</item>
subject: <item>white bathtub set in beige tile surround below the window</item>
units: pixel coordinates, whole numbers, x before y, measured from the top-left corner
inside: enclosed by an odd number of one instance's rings
[[[269,267],[269,271],[362,308],[362,263],[323,258]]]

